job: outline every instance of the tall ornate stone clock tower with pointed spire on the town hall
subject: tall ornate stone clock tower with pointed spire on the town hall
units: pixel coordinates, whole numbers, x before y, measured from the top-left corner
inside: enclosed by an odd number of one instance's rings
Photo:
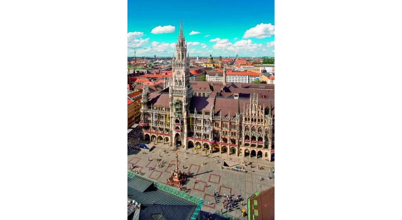
[[[190,61],[183,36],[182,22],[177,37],[176,52],[172,58],[172,78],[169,79],[170,128],[173,146],[187,149],[187,115],[193,89],[190,85]]]

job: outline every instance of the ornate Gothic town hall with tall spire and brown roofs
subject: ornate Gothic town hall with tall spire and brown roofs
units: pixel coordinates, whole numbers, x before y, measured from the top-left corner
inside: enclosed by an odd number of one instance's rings
[[[191,81],[182,32],[166,88],[144,86],[141,122],[144,140],[273,160],[274,85]]]

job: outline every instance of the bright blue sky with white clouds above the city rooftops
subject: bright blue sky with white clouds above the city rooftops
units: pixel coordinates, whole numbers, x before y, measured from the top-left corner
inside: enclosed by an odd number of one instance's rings
[[[190,56],[274,56],[274,11],[274,0],[128,0],[128,56],[172,56],[180,19]]]

